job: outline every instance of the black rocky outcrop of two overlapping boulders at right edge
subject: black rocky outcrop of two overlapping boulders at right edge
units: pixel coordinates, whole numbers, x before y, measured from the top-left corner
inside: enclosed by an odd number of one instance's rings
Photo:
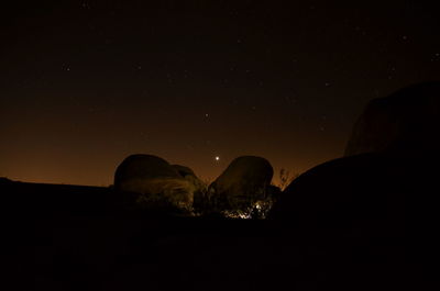
[[[295,179],[270,217],[304,230],[392,235],[438,226],[440,82],[373,100],[345,157]],[[410,225],[410,226],[409,226]]]

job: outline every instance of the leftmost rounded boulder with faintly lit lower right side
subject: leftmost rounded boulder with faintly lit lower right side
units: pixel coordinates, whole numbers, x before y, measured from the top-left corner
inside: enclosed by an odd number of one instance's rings
[[[165,159],[153,155],[132,155],[117,168],[114,189],[135,193],[136,205],[145,209],[179,209],[193,206],[194,181],[185,179]]]

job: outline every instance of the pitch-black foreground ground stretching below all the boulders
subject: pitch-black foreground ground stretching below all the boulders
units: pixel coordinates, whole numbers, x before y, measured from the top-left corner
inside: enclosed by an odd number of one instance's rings
[[[433,242],[416,236],[152,215],[107,188],[0,193],[3,290],[439,290]]]

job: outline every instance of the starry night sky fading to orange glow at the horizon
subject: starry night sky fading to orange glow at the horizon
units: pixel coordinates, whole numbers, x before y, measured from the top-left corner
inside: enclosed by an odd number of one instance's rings
[[[424,1],[16,2],[0,177],[21,181],[108,186],[136,153],[204,180],[241,155],[302,172],[342,155],[369,100],[440,79]]]

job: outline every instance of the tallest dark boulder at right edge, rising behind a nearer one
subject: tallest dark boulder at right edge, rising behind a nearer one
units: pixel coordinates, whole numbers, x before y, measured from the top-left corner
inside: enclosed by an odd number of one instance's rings
[[[439,125],[440,82],[410,86],[366,105],[349,138],[345,156],[435,154]]]

